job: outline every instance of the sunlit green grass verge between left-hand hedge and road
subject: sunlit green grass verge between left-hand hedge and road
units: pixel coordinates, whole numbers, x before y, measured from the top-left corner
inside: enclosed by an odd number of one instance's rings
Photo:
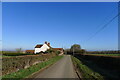
[[[18,72],[14,72],[14,73],[11,73],[11,74],[4,75],[4,76],[2,76],[2,80],[4,80],[4,79],[5,80],[6,79],[8,79],[8,80],[20,80],[20,79],[23,79],[23,78],[31,75],[32,73],[37,72],[40,69],[55,63],[56,61],[60,60],[62,57],[63,56],[56,56],[54,58],[51,58],[48,61],[38,63],[38,64],[33,65],[33,66],[31,66],[31,67],[29,67],[27,69],[22,69],[22,70],[19,70]]]

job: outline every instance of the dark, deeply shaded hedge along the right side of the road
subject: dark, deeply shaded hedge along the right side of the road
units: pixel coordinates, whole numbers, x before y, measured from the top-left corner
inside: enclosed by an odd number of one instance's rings
[[[95,64],[100,69],[105,70],[105,74],[102,74],[108,79],[120,78],[120,57],[80,54],[76,54],[75,57],[84,63],[89,62],[91,65]]]

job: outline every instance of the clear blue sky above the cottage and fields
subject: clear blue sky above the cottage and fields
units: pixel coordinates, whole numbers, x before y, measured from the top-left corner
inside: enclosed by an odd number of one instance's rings
[[[3,50],[34,49],[45,41],[54,48],[116,50],[118,18],[88,39],[117,14],[117,2],[4,2]]]

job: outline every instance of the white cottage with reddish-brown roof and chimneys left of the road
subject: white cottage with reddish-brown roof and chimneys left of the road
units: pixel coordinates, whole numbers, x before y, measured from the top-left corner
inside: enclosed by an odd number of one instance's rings
[[[39,52],[45,52],[50,49],[50,43],[45,42],[44,44],[36,45],[35,46],[35,54]]]

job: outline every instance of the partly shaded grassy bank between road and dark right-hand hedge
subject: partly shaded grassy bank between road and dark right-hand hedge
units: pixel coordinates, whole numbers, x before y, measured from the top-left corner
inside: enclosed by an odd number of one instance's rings
[[[72,61],[73,61],[73,64],[74,64],[76,70],[78,70],[80,72],[82,80],[88,80],[88,79],[104,80],[103,76],[101,76],[99,73],[91,70],[89,67],[84,65],[79,59],[77,59],[73,56],[71,58],[72,58]]]

